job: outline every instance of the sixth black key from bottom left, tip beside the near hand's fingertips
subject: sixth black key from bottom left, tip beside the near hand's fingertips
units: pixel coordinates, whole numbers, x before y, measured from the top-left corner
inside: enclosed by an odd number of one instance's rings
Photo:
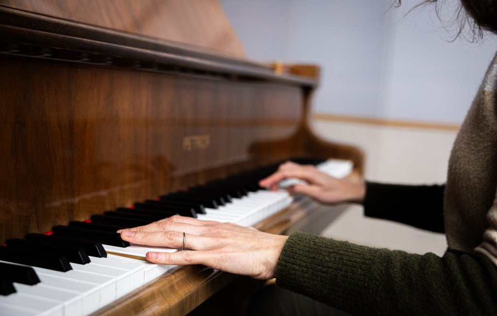
[[[54,236],[56,237],[69,237],[69,238],[86,238],[88,240],[97,240],[103,245],[110,245],[116,247],[128,247],[130,244],[127,241],[121,239],[121,235],[118,233],[96,231],[91,229],[84,229],[79,227],[69,227],[69,226],[54,226],[52,228]]]

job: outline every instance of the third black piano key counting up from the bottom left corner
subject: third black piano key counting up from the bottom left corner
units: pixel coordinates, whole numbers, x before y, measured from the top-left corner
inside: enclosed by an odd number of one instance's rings
[[[37,266],[50,270],[66,272],[73,267],[65,255],[44,253],[43,251],[17,249],[7,246],[0,247],[0,260]]]

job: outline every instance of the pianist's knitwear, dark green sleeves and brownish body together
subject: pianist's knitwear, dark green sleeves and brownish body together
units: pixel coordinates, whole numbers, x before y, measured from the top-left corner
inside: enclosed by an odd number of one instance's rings
[[[496,78],[495,58],[454,144],[446,188],[366,187],[367,216],[445,232],[442,257],[297,232],[276,282],[357,315],[497,315]]]

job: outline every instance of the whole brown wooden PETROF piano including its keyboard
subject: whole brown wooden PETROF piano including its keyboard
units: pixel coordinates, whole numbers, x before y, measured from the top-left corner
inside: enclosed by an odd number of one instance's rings
[[[173,212],[284,233],[317,205],[252,187],[218,209],[198,203],[202,214],[180,207],[185,196],[174,192],[196,187],[201,193],[186,198],[204,200],[208,183],[242,173],[258,180],[256,170],[291,157],[346,159],[355,177],[362,174],[358,149],[327,143],[308,125],[318,68],[248,62],[214,0],[0,0],[0,21],[0,239],[10,244],[0,253],[31,260],[46,238],[26,234],[53,229],[52,243],[67,247],[70,239],[89,255],[57,259],[58,268],[73,268],[67,272],[34,267],[41,282],[16,281],[19,293],[0,299],[2,315],[187,314],[244,278],[148,263],[134,246],[103,246],[134,258],[98,257],[98,244],[74,231],[91,229],[96,238],[95,230],[154,220],[170,212],[153,200],[163,194]],[[267,207],[258,213],[257,203]],[[71,233],[53,228],[68,223]],[[38,257],[61,251],[51,247]],[[14,248],[26,250],[5,250]],[[15,275],[29,283],[32,273]],[[0,275],[0,291],[9,284]]]

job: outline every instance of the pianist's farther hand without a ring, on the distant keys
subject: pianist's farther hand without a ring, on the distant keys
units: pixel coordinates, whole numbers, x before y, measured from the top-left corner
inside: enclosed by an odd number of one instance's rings
[[[336,179],[321,172],[314,166],[299,165],[293,162],[280,165],[278,171],[261,180],[259,185],[271,190],[277,190],[279,182],[288,178],[297,178],[306,182],[306,184],[296,184],[288,187],[289,192],[306,194],[322,203],[361,203],[366,191],[363,183]]]

